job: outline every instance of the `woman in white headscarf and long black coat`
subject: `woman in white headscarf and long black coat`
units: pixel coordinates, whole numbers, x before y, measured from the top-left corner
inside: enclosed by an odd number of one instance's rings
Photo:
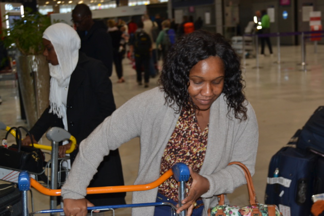
[[[115,110],[108,70],[101,61],[79,52],[80,38],[67,24],[56,23],[48,27],[43,34],[43,44],[43,54],[49,62],[51,75],[50,106],[30,133],[38,141],[50,127],[57,126],[69,131],[80,143]],[[30,143],[31,139],[27,136],[23,144]],[[59,156],[64,157],[69,148],[70,144],[60,146]],[[78,148],[70,154],[71,162],[77,152]],[[107,173],[114,178],[107,178]],[[89,186],[123,184],[121,162],[116,149],[104,158]],[[124,197],[125,193],[88,196],[96,206],[125,204]]]

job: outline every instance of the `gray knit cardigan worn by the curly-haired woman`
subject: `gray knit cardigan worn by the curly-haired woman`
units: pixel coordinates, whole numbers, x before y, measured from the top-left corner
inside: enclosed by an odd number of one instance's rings
[[[258,147],[258,123],[252,106],[246,102],[247,120],[235,118],[228,112],[224,95],[211,107],[208,144],[200,174],[210,183],[210,189],[202,195],[207,215],[208,208],[217,204],[216,195],[232,193],[246,183],[244,173],[229,162],[242,162],[254,174]],[[62,187],[63,199],[81,199],[86,195],[97,166],[123,143],[140,137],[140,162],[134,184],[147,184],[160,176],[162,154],[175,128],[179,114],[165,104],[164,93],[159,88],[146,91],[126,102],[107,117],[80,144],[66,183]],[[107,173],[107,178],[113,178]],[[156,201],[158,188],[133,192],[133,203]],[[133,216],[153,216],[154,207],[133,208]]]

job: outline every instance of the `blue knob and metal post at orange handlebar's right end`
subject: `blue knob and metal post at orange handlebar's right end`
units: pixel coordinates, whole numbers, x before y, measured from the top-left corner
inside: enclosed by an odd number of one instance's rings
[[[175,180],[178,182],[179,206],[182,206],[182,200],[186,197],[186,181],[189,180],[190,171],[185,163],[178,162],[172,166],[172,172]],[[187,210],[180,212],[179,216],[186,216]]]

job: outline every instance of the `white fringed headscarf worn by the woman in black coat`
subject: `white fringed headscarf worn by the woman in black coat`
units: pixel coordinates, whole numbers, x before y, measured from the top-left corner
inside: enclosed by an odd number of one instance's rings
[[[77,32],[69,25],[56,23],[49,26],[43,33],[43,38],[53,44],[58,65],[49,63],[51,75],[50,113],[63,118],[64,128],[67,129],[66,99],[70,77],[78,59],[81,40]]]

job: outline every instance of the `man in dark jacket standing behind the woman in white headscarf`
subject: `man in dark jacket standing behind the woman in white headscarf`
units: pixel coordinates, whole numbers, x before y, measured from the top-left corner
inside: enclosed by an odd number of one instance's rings
[[[94,21],[88,5],[77,4],[72,10],[72,21],[81,39],[80,51],[101,60],[112,73],[112,44],[104,23]]]

